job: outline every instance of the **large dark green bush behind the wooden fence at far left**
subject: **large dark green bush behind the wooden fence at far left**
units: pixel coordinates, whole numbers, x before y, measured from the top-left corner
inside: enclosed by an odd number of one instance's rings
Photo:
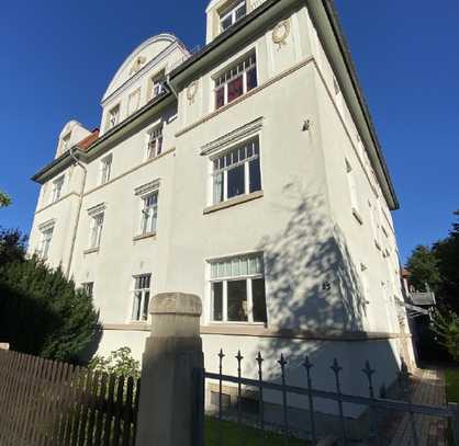
[[[79,362],[100,332],[92,299],[60,267],[25,258],[18,232],[0,240],[0,339],[18,352]]]

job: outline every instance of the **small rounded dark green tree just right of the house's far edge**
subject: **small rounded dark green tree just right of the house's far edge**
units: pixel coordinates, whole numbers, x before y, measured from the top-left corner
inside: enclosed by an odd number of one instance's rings
[[[419,244],[413,250],[406,266],[411,273],[410,283],[416,290],[426,291],[426,284],[434,291],[438,290],[440,272],[437,254],[434,250]]]

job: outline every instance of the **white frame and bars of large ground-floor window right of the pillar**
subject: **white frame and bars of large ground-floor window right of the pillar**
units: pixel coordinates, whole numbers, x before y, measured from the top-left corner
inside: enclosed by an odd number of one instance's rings
[[[258,258],[261,261],[261,273],[240,274],[240,275],[231,275],[231,276],[212,276],[213,265],[219,264],[219,262],[234,262],[238,259],[254,259]],[[249,260],[248,260],[249,261]],[[209,277],[209,320],[212,324],[255,324],[255,325],[266,325],[268,323],[268,301],[267,301],[267,284],[266,284],[266,271],[264,254],[261,252],[255,252],[249,254],[236,254],[223,259],[213,259],[208,261],[208,277]],[[262,278],[265,281],[265,308],[266,308],[266,322],[255,322],[254,321],[254,299],[253,299],[253,281]],[[228,321],[227,315],[227,284],[231,282],[246,281],[247,286],[247,321]],[[213,301],[213,285],[215,283],[222,283],[222,320],[214,320],[214,301]]]

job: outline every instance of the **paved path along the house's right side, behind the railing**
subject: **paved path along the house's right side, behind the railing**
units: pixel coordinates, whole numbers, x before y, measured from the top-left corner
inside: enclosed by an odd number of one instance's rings
[[[418,369],[414,376],[413,402],[445,405],[445,377],[441,370]],[[427,415],[414,415],[419,446],[446,446],[446,421]],[[415,446],[410,415],[393,419],[385,426],[390,446]]]

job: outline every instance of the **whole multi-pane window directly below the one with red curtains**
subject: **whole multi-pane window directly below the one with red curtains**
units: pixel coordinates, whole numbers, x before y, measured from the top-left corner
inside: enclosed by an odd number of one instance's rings
[[[261,191],[258,138],[213,160],[213,203]]]

